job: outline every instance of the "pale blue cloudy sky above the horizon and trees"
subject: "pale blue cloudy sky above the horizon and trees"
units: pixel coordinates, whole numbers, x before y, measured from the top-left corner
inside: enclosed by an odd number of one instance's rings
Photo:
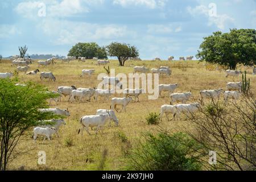
[[[67,55],[78,42],[117,41],[137,46],[142,59],[177,59],[229,28],[256,28],[256,0],[0,1],[3,56],[25,44],[30,54]]]

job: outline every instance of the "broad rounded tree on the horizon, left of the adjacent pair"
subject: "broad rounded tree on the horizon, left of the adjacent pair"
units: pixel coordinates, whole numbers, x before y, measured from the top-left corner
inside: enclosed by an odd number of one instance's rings
[[[87,59],[93,59],[93,57],[98,57],[98,59],[108,59],[106,49],[98,46],[98,44],[94,42],[77,43],[69,50],[68,56],[76,56],[76,58],[86,57]]]

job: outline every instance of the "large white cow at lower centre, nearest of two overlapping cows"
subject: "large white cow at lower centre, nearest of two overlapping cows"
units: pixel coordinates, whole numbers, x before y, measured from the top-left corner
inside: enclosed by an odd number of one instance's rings
[[[89,127],[92,128],[92,127],[96,126],[97,127],[96,134],[97,134],[98,130],[105,125],[106,121],[109,118],[111,118],[109,113],[99,114],[99,115],[84,115],[83,117],[80,118],[80,123],[82,125],[82,129],[79,129],[79,133],[81,130],[81,134],[82,134],[82,131],[85,128],[87,133],[90,135]]]

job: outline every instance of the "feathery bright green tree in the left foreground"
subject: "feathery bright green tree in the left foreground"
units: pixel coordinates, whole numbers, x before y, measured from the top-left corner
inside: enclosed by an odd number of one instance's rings
[[[48,107],[46,100],[54,94],[45,92],[40,85],[26,84],[15,86],[15,80],[0,79],[0,171],[6,170],[7,164],[19,155],[14,148],[29,134],[27,131],[31,127],[42,125],[39,121],[56,117],[39,111]]]

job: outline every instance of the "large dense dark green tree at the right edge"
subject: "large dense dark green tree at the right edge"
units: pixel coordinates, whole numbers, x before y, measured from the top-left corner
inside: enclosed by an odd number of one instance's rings
[[[204,38],[197,58],[209,63],[229,66],[256,64],[256,31],[254,29],[232,29],[228,33],[214,32]]]

